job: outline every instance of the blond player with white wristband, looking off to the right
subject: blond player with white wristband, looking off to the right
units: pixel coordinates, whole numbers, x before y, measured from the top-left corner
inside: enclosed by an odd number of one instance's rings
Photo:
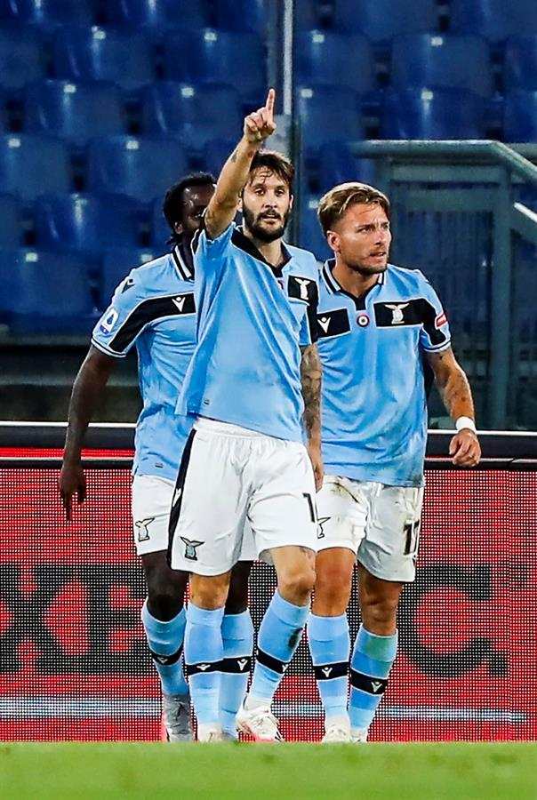
[[[397,604],[413,581],[427,439],[424,362],[457,433],[453,464],[480,458],[474,405],[437,294],[419,269],[388,263],[389,201],[336,186],[318,216],[333,250],[322,270],[325,480],[317,495],[317,581],[309,648],[325,708],[324,741],[365,741],[397,653]],[[362,625],[350,660],[347,607],[358,562]]]

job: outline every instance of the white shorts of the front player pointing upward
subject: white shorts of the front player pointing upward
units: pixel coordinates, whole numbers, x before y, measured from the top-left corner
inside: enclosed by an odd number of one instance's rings
[[[185,447],[170,518],[171,564],[220,575],[239,560],[244,524],[255,552],[316,548],[315,480],[303,444],[196,421]]]

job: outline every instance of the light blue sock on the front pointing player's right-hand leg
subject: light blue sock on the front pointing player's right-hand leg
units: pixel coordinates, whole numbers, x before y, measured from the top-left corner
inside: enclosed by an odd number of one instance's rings
[[[285,673],[285,668],[301,641],[308,619],[309,605],[293,605],[274,593],[257,637],[257,658],[253,670],[248,705],[270,703]]]

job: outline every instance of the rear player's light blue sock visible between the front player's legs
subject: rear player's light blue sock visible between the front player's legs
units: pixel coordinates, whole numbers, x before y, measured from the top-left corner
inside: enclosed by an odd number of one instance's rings
[[[253,624],[249,611],[224,614],[222,640],[220,723],[223,731],[236,737],[236,712],[244,700],[252,666]]]

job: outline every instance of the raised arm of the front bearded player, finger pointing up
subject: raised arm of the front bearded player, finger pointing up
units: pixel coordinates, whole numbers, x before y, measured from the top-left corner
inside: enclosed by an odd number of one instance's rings
[[[234,220],[238,198],[248,180],[253,156],[263,141],[276,131],[275,99],[276,92],[270,89],[263,108],[258,108],[244,119],[243,136],[222,167],[216,190],[205,212],[205,230],[210,239],[220,236]]]

